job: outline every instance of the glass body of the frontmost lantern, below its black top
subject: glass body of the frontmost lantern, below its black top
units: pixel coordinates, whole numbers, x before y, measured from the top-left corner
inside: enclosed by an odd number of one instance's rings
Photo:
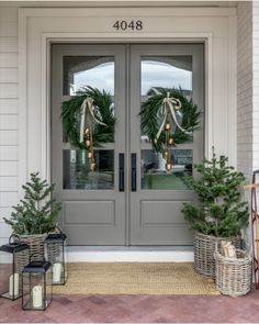
[[[23,310],[44,311],[53,299],[52,267],[46,272],[23,272]]]

